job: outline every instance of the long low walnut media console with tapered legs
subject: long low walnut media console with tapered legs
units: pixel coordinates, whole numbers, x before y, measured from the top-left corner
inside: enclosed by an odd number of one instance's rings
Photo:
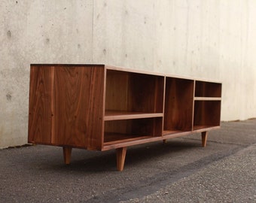
[[[32,144],[116,149],[220,128],[221,83],[108,65],[33,64],[29,86]]]

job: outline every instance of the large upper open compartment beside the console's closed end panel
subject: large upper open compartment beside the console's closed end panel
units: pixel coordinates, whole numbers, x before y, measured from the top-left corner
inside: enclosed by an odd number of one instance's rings
[[[163,114],[163,86],[163,76],[107,69],[105,120],[118,120],[115,116],[122,114],[121,119]]]

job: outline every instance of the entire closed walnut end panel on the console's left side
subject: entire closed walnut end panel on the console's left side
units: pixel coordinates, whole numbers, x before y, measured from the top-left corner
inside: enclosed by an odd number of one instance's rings
[[[32,65],[29,142],[101,149],[104,66]]]

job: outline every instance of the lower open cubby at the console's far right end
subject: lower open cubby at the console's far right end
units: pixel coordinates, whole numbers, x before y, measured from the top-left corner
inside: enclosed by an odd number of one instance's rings
[[[220,126],[221,101],[195,101],[194,130]]]

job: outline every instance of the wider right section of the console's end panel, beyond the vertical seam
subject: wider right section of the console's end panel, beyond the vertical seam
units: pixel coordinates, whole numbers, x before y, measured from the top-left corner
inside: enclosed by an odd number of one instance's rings
[[[53,144],[101,148],[103,78],[103,68],[55,68]]]

